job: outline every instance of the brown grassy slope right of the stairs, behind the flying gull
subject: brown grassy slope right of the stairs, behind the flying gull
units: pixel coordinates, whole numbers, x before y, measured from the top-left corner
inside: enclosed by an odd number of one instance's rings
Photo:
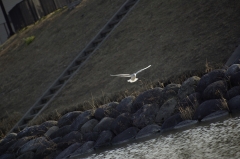
[[[224,65],[240,36],[240,2],[215,0],[141,0],[45,111],[63,110],[141,82],[110,74],[139,74],[143,81],[163,80],[186,71]]]

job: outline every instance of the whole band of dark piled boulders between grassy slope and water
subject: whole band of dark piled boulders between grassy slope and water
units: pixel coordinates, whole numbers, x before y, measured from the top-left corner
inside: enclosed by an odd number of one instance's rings
[[[186,79],[182,85],[129,96],[58,121],[26,127],[0,142],[2,158],[66,158],[240,111],[240,65]]]

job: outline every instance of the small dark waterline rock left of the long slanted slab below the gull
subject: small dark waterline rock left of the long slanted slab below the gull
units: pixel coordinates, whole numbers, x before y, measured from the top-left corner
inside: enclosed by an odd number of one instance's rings
[[[113,136],[114,136],[114,134],[110,130],[101,132],[101,134],[99,135],[99,137],[94,145],[94,148],[99,148],[102,146],[110,145]]]

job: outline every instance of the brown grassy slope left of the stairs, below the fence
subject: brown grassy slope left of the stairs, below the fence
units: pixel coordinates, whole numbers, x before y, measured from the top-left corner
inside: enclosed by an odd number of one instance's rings
[[[15,124],[10,119],[18,120],[36,102],[124,2],[83,0],[74,10],[56,12],[1,46],[0,130]],[[22,39],[32,35],[35,40],[26,46]]]

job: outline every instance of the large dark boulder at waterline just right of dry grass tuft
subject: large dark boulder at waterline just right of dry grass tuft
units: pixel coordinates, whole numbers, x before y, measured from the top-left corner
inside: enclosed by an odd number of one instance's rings
[[[193,119],[201,121],[205,116],[218,110],[224,110],[227,108],[228,106],[225,100],[222,99],[207,100],[201,103],[199,107],[196,109]]]

